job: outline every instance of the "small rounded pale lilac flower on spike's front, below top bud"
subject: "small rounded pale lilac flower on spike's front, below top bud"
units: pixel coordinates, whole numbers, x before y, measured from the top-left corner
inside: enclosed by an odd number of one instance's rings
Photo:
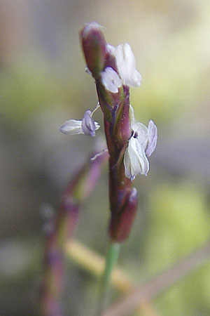
[[[106,67],[104,72],[101,72],[101,76],[102,84],[106,90],[109,90],[112,93],[117,93],[118,88],[123,84],[123,81],[120,79],[117,72],[111,67]]]

